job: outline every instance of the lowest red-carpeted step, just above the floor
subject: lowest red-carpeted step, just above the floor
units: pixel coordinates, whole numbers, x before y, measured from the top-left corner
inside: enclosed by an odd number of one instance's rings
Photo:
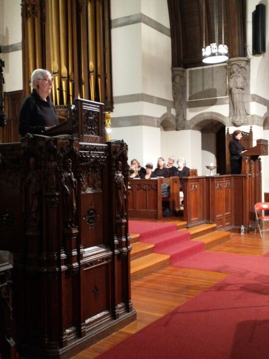
[[[156,249],[156,246],[154,248],[155,253],[170,255],[170,265],[174,265],[178,261],[202,251],[204,251],[204,243],[195,241],[185,241],[167,246],[163,249]]]

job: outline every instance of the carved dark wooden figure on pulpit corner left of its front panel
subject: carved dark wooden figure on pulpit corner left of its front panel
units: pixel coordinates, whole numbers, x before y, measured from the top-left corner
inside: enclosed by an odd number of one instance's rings
[[[67,158],[63,164],[63,222],[64,228],[76,227],[74,224],[77,211],[77,180],[72,172],[72,160]]]

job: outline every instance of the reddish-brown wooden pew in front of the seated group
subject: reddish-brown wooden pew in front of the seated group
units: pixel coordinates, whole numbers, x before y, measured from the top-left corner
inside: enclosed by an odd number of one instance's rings
[[[162,218],[161,183],[170,184],[169,209],[175,215],[179,209],[179,178],[130,179],[129,218]]]

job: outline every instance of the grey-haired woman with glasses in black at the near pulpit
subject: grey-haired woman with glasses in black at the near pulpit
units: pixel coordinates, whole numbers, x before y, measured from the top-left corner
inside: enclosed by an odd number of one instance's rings
[[[50,101],[52,76],[47,70],[36,69],[31,75],[33,91],[28,95],[19,111],[18,131],[21,136],[26,133],[41,134],[59,124],[55,106]]]

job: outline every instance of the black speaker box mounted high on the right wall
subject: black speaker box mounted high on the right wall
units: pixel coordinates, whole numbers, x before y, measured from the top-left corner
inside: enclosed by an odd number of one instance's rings
[[[252,54],[266,52],[266,5],[256,5],[252,13]]]

